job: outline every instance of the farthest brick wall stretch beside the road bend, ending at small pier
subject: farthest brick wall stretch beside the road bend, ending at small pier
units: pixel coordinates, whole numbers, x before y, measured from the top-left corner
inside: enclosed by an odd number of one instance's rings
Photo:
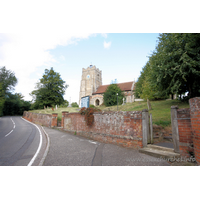
[[[23,118],[30,122],[47,127],[57,126],[57,114],[53,114],[52,119],[52,115],[24,111]]]

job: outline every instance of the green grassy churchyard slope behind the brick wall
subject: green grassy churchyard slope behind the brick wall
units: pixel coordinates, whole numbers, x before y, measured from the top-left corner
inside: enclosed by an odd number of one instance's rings
[[[177,100],[163,100],[163,101],[151,101],[152,110],[149,113],[152,113],[153,123],[161,125],[163,127],[171,124],[171,106],[178,105],[179,108],[189,108],[189,104],[185,102],[180,102]],[[117,106],[99,107],[103,111],[117,111]],[[143,109],[148,109],[147,102],[134,102],[127,103],[126,105],[118,106],[118,111],[141,111]],[[52,114],[58,113],[58,119],[61,120],[62,112],[78,112],[79,108],[58,108],[57,110],[52,111],[52,109],[42,109],[42,110],[32,110],[30,112],[43,113],[43,114]]]

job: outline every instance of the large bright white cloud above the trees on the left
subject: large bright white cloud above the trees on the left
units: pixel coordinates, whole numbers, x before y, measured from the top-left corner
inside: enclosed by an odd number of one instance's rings
[[[57,62],[49,50],[58,45],[77,44],[92,34],[0,34],[0,67],[15,72],[18,79],[15,92],[21,92],[25,100],[31,100],[29,93],[38,80],[30,75],[41,66]],[[64,58],[64,57],[60,57]]]

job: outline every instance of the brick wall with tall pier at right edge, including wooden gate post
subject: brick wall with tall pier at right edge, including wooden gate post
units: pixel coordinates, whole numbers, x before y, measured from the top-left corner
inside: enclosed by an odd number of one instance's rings
[[[171,108],[174,149],[184,157],[194,154],[200,165],[200,97],[190,99],[189,103],[190,108]]]

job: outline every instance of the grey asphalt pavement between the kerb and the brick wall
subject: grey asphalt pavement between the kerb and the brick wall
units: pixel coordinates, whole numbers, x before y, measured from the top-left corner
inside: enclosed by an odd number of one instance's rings
[[[138,150],[100,143],[44,127],[50,138],[44,166],[169,166]]]

